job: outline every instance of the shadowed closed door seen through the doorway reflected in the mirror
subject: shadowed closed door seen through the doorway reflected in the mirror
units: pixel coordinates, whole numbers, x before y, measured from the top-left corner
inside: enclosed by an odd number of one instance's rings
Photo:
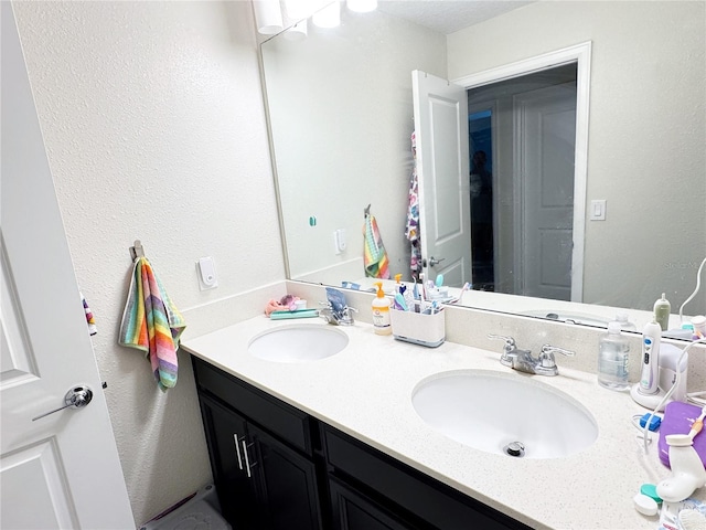
[[[522,226],[515,269],[526,296],[571,299],[576,83],[516,96]],[[576,244],[582,245],[582,240]]]

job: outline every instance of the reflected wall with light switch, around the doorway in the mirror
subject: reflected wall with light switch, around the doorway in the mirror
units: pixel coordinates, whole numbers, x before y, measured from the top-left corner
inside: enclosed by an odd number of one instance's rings
[[[449,77],[586,41],[587,195],[608,203],[587,221],[585,300],[651,309],[670,285],[675,311],[706,255],[706,2],[535,2],[449,35]]]

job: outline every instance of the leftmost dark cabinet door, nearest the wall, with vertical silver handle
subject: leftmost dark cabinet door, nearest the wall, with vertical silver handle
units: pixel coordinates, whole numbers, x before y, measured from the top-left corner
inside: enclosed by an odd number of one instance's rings
[[[258,528],[253,481],[245,470],[245,420],[205,395],[200,395],[208,456],[223,517],[233,528]]]

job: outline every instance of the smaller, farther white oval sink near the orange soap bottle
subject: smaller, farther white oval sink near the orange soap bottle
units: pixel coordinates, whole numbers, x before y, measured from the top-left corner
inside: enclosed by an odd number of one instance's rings
[[[266,361],[309,362],[335,356],[347,343],[347,335],[334,327],[295,325],[259,333],[247,351]]]

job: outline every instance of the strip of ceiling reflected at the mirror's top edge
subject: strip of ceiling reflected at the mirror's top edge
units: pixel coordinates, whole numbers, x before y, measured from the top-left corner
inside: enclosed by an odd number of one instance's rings
[[[535,0],[379,0],[377,9],[448,35]]]

